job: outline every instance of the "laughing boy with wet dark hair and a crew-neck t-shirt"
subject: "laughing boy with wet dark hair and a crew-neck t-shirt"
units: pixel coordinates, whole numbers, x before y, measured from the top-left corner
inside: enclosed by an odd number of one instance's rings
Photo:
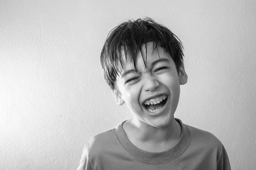
[[[151,18],[111,31],[101,53],[104,77],[133,117],[90,139],[78,170],[230,170],[212,133],[174,118],[188,79],[182,49],[175,34]]]

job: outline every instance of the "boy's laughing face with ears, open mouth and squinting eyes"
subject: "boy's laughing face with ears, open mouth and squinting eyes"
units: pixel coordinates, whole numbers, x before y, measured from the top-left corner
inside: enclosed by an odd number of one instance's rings
[[[173,59],[163,48],[158,47],[158,52],[156,49],[152,54],[153,42],[147,43],[145,60],[144,47],[143,55],[139,52],[137,58],[137,72],[123,57],[124,69],[119,66],[121,76],[116,82],[119,92],[113,94],[119,105],[126,103],[135,119],[154,127],[166,127],[176,111],[180,85],[186,83],[187,75],[184,66],[177,72]]]

